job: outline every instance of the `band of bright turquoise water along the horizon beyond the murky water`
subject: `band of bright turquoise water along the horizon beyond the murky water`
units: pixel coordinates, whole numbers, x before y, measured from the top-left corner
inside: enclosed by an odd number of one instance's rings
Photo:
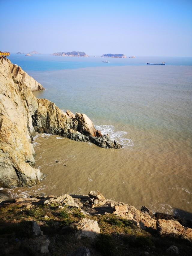
[[[101,58],[101,57],[63,57],[52,55],[33,55],[24,54],[10,55],[11,62],[22,67],[26,72],[29,71],[53,71],[60,69],[76,68],[95,68],[95,67],[114,67],[127,65],[146,65],[149,63],[161,63],[165,61],[167,65],[192,65],[190,57],[137,57],[137,58]],[[109,61],[103,63],[102,61]]]

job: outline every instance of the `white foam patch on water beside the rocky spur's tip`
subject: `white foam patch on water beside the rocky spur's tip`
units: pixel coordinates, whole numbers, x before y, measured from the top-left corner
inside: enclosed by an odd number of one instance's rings
[[[126,131],[114,131],[113,125],[95,125],[95,129],[101,131],[102,134],[109,134],[112,140],[116,140],[120,144],[125,146],[134,146],[134,142],[131,139],[125,138]]]

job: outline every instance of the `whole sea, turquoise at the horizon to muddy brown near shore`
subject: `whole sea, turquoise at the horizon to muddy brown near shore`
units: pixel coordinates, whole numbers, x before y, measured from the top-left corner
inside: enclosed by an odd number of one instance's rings
[[[192,219],[192,58],[12,53],[10,60],[46,88],[34,92],[37,98],[85,113],[123,145],[103,149],[37,134],[35,167],[45,177],[33,187],[7,190],[11,197],[99,190],[138,209]]]

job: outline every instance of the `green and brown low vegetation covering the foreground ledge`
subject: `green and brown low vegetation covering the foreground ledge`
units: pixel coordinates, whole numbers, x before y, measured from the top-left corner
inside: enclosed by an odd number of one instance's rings
[[[166,249],[171,245],[176,245],[182,251],[182,255],[190,255],[191,244],[186,239],[177,236],[160,237],[154,233],[142,230],[137,223],[117,217],[113,214],[88,215],[89,219],[98,221],[100,234],[95,240],[89,238],[77,239],[76,224],[85,218],[85,215],[76,207],[64,206],[61,204],[36,205],[30,209],[26,205],[7,204],[0,208],[0,248],[6,242],[11,241],[15,246],[15,251],[35,252],[29,248],[22,248],[15,241],[23,241],[32,237],[29,229],[29,221],[35,220],[41,227],[44,235],[49,240],[49,255],[67,255],[79,246],[86,246],[90,249],[91,255],[96,256],[135,256],[144,255],[145,251],[149,255],[164,255]],[[45,218],[46,216],[46,218]],[[22,243],[21,243],[22,244]],[[20,247],[19,247],[20,246]],[[17,255],[17,254],[16,254]],[[26,255],[26,254],[18,254]]]

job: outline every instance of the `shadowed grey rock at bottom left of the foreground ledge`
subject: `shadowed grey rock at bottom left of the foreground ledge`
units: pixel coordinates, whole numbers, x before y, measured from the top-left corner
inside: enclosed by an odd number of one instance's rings
[[[42,253],[42,254],[47,254],[49,253],[49,239],[47,239],[46,236],[38,236],[32,239],[28,239],[26,241],[26,243],[28,244],[28,246],[30,246],[33,251],[36,252],[36,254],[38,253]]]

